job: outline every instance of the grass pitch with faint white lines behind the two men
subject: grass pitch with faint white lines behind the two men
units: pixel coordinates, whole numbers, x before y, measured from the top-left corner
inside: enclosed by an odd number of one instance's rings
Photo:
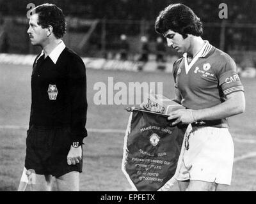
[[[95,105],[93,97],[97,82],[108,85],[108,77],[116,82],[163,82],[163,94],[174,97],[172,74],[134,73],[87,69],[88,115],[84,139],[84,166],[81,191],[128,191],[129,182],[122,173],[124,133],[107,133],[95,129],[125,130],[132,105]],[[26,128],[31,105],[30,66],[0,64],[0,191],[16,191],[24,166]],[[256,86],[255,78],[241,79],[246,95],[246,112],[231,117],[230,133],[234,138],[235,157],[232,185],[228,191],[256,191]],[[117,91],[115,91],[117,92]],[[115,94],[115,93],[114,93]],[[177,191],[174,186],[173,191]]]

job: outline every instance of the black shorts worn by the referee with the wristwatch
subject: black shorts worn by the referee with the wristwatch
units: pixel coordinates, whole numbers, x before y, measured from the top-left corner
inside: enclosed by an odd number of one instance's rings
[[[26,138],[25,167],[39,175],[60,177],[70,171],[82,172],[82,160],[75,165],[67,164],[71,145],[70,128],[46,128],[31,126]]]

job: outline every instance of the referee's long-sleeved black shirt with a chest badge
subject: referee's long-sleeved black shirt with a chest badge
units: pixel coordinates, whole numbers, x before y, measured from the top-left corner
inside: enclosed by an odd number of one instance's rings
[[[44,55],[35,60],[31,94],[29,128],[69,126],[73,142],[83,142],[87,136],[86,71],[76,53],[65,47],[56,64]]]

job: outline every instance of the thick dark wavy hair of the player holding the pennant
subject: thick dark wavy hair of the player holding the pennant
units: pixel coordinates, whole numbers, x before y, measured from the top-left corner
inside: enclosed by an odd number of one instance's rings
[[[170,4],[160,11],[155,22],[157,33],[166,33],[169,29],[187,38],[188,34],[202,36],[203,24],[194,11],[184,4]]]

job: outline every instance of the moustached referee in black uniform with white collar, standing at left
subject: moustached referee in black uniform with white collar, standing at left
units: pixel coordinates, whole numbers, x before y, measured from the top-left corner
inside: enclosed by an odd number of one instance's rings
[[[86,71],[82,59],[61,40],[63,12],[54,4],[32,10],[28,34],[42,47],[31,75],[31,114],[26,138],[25,168],[35,173],[34,191],[79,191],[85,129]]]

